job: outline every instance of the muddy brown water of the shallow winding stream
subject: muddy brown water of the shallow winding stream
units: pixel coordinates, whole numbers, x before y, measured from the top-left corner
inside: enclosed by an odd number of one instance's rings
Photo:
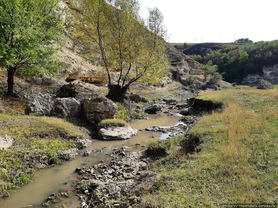
[[[182,103],[182,98],[174,97]],[[167,105],[166,105],[167,106]],[[169,110],[169,109],[162,109]],[[177,109],[171,109],[173,113],[176,113]],[[173,126],[178,123],[180,114],[176,113],[175,116],[168,116],[166,113],[148,115],[147,119],[136,120],[130,126],[137,130],[145,129],[151,125],[160,126]],[[137,142],[140,145],[144,145],[148,140],[153,137],[160,137],[165,139],[167,134],[162,135],[159,132],[138,132],[136,136],[133,136],[127,140],[115,140],[115,141],[102,141],[92,139],[93,142],[86,149],[101,149],[102,152],[93,152],[90,156],[77,156],[72,161],[66,161],[63,165],[56,165],[54,167],[48,167],[35,171],[35,176],[32,181],[21,188],[10,191],[10,197],[0,198],[0,208],[21,208],[32,205],[32,207],[42,208],[44,199],[50,196],[51,193],[59,194],[59,192],[65,192],[73,190],[76,183],[80,181],[80,175],[75,173],[76,167],[82,166],[94,166],[98,164],[100,160],[111,160],[109,153],[113,151],[113,148],[121,148],[122,146],[129,146],[131,151],[140,151],[141,147],[135,147]],[[104,148],[106,147],[106,148]],[[104,148],[104,149],[103,149]],[[84,152],[85,150],[80,150]],[[48,207],[54,208],[76,208],[80,204],[80,200],[76,192],[71,192],[69,197],[61,197],[61,201],[53,203],[49,202]],[[31,207],[31,206],[30,206]]]

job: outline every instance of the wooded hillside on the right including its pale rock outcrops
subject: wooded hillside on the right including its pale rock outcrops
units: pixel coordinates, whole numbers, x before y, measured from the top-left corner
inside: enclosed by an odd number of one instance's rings
[[[194,53],[190,55],[194,60],[217,65],[227,82],[257,84],[264,78],[273,84],[278,83],[277,40],[244,45],[206,43],[187,47],[184,52]]]

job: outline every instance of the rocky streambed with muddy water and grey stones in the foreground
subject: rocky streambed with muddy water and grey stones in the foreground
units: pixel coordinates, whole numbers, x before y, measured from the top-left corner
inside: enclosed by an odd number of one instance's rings
[[[183,103],[182,98],[175,99]],[[188,106],[166,104],[158,114],[148,115],[148,120],[136,120],[131,127],[140,131],[130,139],[93,139],[91,146],[85,152],[82,150],[75,160],[36,171],[34,182],[16,193],[11,192],[10,198],[1,199],[0,207],[136,207],[140,191],[158,177],[150,171],[153,161],[145,153],[144,144],[152,138],[165,139],[187,131],[190,125],[179,122],[178,113],[185,108]],[[195,120],[187,116],[188,123],[193,124]]]

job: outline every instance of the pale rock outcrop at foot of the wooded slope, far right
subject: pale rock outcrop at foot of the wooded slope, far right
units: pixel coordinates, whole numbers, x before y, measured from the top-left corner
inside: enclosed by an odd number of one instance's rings
[[[272,84],[278,84],[278,64],[272,67],[263,67],[263,74],[249,74],[242,79],[242,84],[257,84],[260,79],[269,80]]]

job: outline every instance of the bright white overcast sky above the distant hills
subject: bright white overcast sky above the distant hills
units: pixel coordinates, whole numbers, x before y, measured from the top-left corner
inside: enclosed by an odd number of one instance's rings
[[[164,16],[170,43],[233,42],[278,39],[277,0],[138,0],[140,16],[157,7]],[[202,38],[203,36],[203,38]]]

